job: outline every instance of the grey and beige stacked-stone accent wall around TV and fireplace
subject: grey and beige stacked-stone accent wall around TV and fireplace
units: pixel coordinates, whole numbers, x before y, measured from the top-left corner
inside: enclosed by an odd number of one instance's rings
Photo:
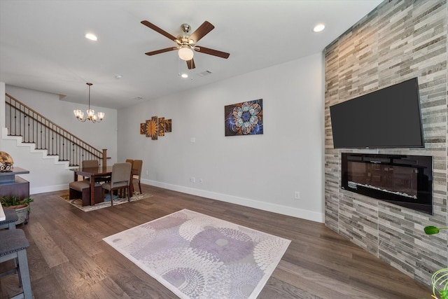
[[[447,0],[384,1],[325,48],[325,225],[430,285],[448,265]],[[425,148],[334,149],[329,107],[419,78]],[[432,155],[433,216],[340,189],[341,153]]]

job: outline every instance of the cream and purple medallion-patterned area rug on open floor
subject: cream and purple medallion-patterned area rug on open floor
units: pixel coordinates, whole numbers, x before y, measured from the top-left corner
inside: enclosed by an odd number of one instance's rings
[[[179,298],[256,298],[290,240],[183,209],[103,239]]]

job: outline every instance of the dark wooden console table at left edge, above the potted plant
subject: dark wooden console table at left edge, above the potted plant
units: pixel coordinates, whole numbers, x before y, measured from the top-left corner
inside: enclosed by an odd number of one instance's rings
[[[0,196],[29,197],[29,181],[17,174],[29,174],[29,170],[14,167],[12,172],[0,172]]]

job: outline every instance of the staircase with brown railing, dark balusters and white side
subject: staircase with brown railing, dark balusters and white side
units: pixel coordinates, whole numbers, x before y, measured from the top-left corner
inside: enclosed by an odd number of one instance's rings
[[[5,127],[0,148],[12,155],[14,165],[29,170],[20,176],[29,181],[31,195],[68,192],[74,175],[69,169],[78,167],[82,160],[99,160],[100,165],[106,165],[106,150],[94,148],[14,97],[3,95]]]

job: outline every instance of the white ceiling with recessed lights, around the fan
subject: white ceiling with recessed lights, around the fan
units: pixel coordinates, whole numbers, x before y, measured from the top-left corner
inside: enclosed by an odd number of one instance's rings
[[[0,81],[61,95],[67,102],[120,109],[319,53],[381,3],[379,0],[108,1],[0,0]],[[176,46],[141,25],[169,34],[205,20],[215,26],[197,46],[230,53],[195,53],[190,78]],[[319,22],[325,30],[312,32]],[[92,32],[98,41],[85,39]],[[207,76],[198,74],[211,71]],[[122,78],[116,78],[117,75]],[[20,99],[19,99],[20,100]]]

